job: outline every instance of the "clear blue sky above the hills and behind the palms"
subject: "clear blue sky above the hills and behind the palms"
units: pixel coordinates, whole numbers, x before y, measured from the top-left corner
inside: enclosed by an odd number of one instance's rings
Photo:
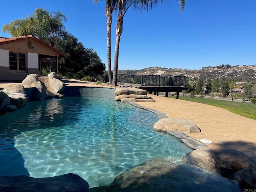
[[[86,48],[94,48],[107,66],[105,0],[12,0],[0,12],[4,24],[33,14],[38,7],[63,12],[66,30]],[[256,64],[256,0],[186,0],[183,12],[170,0],[153,10],[128,10],[120,39],[118,70],[150,66],[200,69],[222,64]],[[116,40],[112,20],[112,69]]]

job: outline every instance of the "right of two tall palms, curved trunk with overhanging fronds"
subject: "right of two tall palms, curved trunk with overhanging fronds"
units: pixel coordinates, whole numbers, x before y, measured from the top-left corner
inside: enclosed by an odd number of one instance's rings
[[[117,84],[117,71],[118,71],[118,57],[119,57],[119,44],[120,37],[123,31],[123,19],[128,8],[131,6],[135,9],[148,10],[154,8],[157,4],[164,2],[164,0],[118,0],[118,18],[116,22],[116,46],[114,56],[114,69],[113,69],[113,80],[112,84]],[[182,11],[185,7],[186,0],[179,0],[180,10]]]

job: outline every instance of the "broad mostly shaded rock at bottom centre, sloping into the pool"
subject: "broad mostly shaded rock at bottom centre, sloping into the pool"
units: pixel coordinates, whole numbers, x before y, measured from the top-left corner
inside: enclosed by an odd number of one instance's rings
[[[184,163],[182,158],[150,159],[117,176],[110,191],[117,192],[240,192],[236,184],[219,174]]]

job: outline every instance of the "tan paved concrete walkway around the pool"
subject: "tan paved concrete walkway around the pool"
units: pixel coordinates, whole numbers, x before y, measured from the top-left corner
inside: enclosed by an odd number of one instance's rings
[[[96,86],[94,83],[65,80],[67,86]],[[7,84],[0,83],[0,88]],[[225,109],[163,96],[150,95],[156,102],[138,102],[142,106],[160,110],[169,117],[185,118],[197,124],[201,133],[187,133],[196,140],[211,140],[212,148],[234,149],[256,161],[256,120]]]

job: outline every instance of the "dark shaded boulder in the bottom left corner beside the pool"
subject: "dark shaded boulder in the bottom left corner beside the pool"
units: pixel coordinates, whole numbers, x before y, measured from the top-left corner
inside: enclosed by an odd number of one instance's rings
[[[25,175],[0,177],[0,191],[6,192],[89,192],[88,182],[76,174],[48,178]]]

